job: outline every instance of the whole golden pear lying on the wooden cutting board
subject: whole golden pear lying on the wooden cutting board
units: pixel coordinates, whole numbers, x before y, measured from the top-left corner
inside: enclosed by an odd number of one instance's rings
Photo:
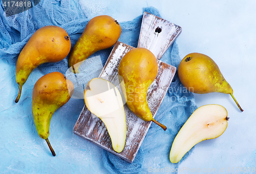
[[[130,110],[140,119],[153,121],[166,130],[166,126],[153,118],[146,99],[147,90],[155,80],[157,72],[157,59],[145,48],[134,48],[127,52],[118,67],[119,81],[124,82],[121,90]]]

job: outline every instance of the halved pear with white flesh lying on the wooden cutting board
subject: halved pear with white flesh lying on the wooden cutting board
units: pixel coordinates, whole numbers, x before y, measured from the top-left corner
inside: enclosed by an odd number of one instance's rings
[[[102,78],[93,78],[84,90],[88,110],[99,117],[106,126],[112,147],[120,153],[126,139],[126,117],[123,101],[116,86]]]

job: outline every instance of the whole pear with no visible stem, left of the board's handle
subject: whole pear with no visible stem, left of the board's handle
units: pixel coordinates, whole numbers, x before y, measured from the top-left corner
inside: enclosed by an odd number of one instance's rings
[[[107,49],[116,44],[121,35],[117,20],[108,15],[92,18],[77,40],[69,55],[69,67],[79,73],[79,66],[96,51]]]

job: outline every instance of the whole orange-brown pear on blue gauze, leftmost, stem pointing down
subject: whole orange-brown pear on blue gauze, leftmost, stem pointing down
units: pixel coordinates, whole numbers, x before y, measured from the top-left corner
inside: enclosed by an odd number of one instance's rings
[[[39,28],[30,37],[16,62],[16,82],[19,85],[19,92],[15,102],[18,102],[22,86],[36,67],[42,63],[64,59],[70,49],[71,41],[63,28],[57,26]]]

